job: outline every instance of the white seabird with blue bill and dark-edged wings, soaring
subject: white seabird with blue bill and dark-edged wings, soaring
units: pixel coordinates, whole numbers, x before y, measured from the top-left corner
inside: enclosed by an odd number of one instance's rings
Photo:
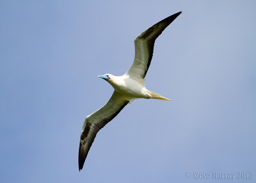
[[[182,12],[175,13],[161,20],[154,26],[143,31],[134,40],[134,61],[123,76],[104,74],[98,76],[106,80],[115,89],[107,104],[86,116],[80,136],[78,164],[79,171],[83,169],[84,161],[90,147],[99,132],[108,122],[113,120],[127,104],[134,99],[170,100],[145,88],[145,77],[150,66],[156,38],[169,26]]]

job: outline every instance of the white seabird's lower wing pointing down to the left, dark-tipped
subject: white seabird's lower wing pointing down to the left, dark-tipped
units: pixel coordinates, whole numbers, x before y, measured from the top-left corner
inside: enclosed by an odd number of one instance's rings
[[[115,118],[115,116],[122,111],[130,100],[131,99],[124,97],[124,95],[114,91],[112,97],[105,106],[101,107],[98,111],[95,111],[91,115],[86,116],[79,144],[79,171],[83,168],[84,161],[97,132],[99,132],[99,130],[102,129],[106,123],[113,120],[113,118]]]

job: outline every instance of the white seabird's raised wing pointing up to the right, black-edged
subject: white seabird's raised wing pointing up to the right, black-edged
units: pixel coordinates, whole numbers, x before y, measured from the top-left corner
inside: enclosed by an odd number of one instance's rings
[[[154,24],[154,26],[148,28],[134,40],[135,56],[131,67],[125,73],[127,76],[140,83],[145,83],[145,76],[152,60],[156,38],[161,35],[163,30],[169,26],[180,13],[182,12],[175,13],[157,24]]]

